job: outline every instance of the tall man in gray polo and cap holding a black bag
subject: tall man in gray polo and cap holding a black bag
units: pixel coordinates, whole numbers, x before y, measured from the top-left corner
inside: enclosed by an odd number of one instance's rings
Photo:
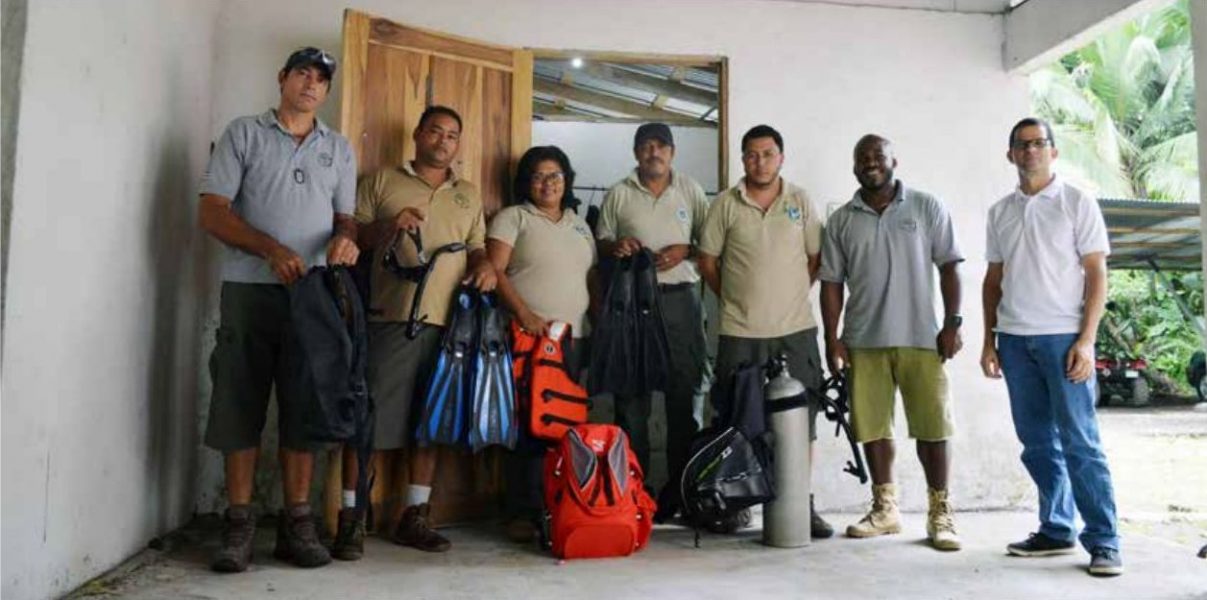
[[[321,49],[291,54],[276,76],[278,107],[231,122],[202,180],[202,228],[226,245],[205,430],[205,444],[225,454],[231,502],[215,571],[243,571],[251,560],[252,479],[274,384],[286,505],[274,555],[304,567],[331,561],[308,503],[314,447],[303,436],[299,398],[282,379],[282,357],[291,345],[286,286],[309,267],[355,264],[358,255],[356,157],[315,116],[334,71],[336,59]]]

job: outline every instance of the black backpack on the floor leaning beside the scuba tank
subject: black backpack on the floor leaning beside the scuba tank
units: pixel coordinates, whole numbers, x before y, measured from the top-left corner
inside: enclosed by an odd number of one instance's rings
[[[680,493],[683,515],[696,530],[696,546],[699,528],[736,531],[742,511],[775,499],[763,378],[759,365],[734,372],[729,414],[719,415],[692,442]]]

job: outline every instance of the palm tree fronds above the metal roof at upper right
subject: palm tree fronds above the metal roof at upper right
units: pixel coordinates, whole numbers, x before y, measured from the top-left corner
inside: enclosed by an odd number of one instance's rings
[[[1154,11],[1031,76],[1062,171],[1101,197],[1197,202],[1186,0]]]

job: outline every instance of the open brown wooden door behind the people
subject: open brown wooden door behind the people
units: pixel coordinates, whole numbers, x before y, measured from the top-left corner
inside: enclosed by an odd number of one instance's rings
[[[532,122],[532,53],[416,29],[354,10],[344,11],[340,130],[352,145],[360,174],[415,157],[412,132],[428,105],[462,118],[457,174],[478,186],[486,215],[511,190],[514,164],[527,150]],[[326,515],[339,509],[339,460],[327,473]],[[492,514],[498,506],[501,455],[444,450],[432,518],[437,523]],[[397,464],[396,464],[397,462]],[[371,528],[392,526],[402,512],[398,490],[406,461],[374,464]]]

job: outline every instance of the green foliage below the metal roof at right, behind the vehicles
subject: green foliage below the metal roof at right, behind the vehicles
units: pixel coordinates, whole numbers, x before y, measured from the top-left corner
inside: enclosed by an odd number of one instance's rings
[[[1098,353],[1145,359],[1150,369],[1177,383],[1178,389],[1167,391],[1193,394],[1186,383],[1186,365],[1190,355],[1202,348],[1202,340],[1173,295],[1182,298],[1191,315],[1202,315],[1203,278],[1202,273],[1168,273],[1166,276],[1170,286],[1161,285],[1150,272],[1110,273],[1109,308],[1098,332]],[[1110,333],[1112,326],[1121,339]]]

